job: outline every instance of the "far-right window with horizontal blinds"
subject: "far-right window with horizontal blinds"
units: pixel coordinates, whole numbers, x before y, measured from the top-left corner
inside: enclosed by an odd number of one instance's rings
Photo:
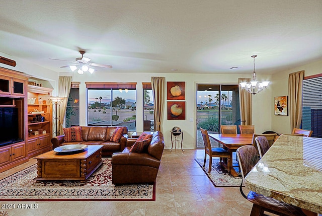
[[[302,129],[322,138],[322,74],[303,80]]]

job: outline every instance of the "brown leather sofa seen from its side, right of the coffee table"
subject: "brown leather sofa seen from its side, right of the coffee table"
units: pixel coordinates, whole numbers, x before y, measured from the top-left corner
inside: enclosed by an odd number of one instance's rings
[[[136,138],[127,139],[123,152],[112,155],[112,183],[115,185],[155,182],[165,148],[163,134],[155,131],[144,153],[129,152],[135,141]]]

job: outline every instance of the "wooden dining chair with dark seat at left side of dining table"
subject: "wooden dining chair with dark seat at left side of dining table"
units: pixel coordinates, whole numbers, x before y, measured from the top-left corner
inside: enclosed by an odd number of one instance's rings
[[[208,173],[211,172],[212,157],[219,157],[220,166],[221,166],[222,158],[227,158],[227,164],[228,164],[228,162],[230,160],[229,152],[227,152],[225,149],[223,149],[221,147],[212,148],[211,143],[210,143],[210,139],[209,139],[209,135],[208,135],[208,131],[205,130],[205,129],[202,129],[202,128],[200,128],[200,131],[201,131],[203,143],[204,143],[204,146],[205,146],[205,158],[204,158],[204,162],[203,162],[203,167],[205,167],[207,155],[209,155]],[[229,169],[228,169],[228,172],[230,172]]]

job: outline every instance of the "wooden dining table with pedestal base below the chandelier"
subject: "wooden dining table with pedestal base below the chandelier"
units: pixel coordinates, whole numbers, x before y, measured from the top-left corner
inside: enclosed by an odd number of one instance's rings
[[[232,153],[236,152],[236,150],[245,145],[252,145],[253,142],[253,134],[217,134],[210,133],[208,134],[210,138],[215,141],[221,143],[230,154],[230,160],[228,160],[225,165],[227,169],[230,171],[230,175],[237,177],[239,174],[234,170],[232,166]]]

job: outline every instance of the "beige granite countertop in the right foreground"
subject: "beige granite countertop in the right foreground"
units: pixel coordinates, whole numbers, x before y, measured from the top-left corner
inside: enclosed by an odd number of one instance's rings
[[[245,178],[246,187],[322,214],[322,138],[281,135]]]

